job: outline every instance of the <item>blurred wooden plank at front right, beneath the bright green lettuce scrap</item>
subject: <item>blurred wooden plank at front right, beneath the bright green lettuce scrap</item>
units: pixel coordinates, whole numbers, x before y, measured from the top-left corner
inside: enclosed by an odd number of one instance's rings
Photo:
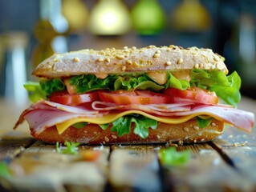
[[[189,150],[191,159],[184,166],[164,167],[165,190],[174,191],[253,191],[247,181],[207,143],[178,146]]]

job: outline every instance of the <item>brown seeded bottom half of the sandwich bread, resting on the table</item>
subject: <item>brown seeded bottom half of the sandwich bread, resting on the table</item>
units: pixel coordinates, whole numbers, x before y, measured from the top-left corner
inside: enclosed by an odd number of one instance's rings
[[[118,136],[116,132],[111,131],[111,127],[102,130],[96,124],[88,124],[82,129],[73,126],[69,127],[59,134],[55,126],[44,130],[41,134],[35,135],[31,130],[34,138],[43,142],[79,142],[83,144],[143,144],[143,143],[163,143],[163,142],[207,142],[213,140],[222,134],[224,123],[213,119],[209,126],[199,128],[197,120],[191,119],[188,122],[180,124],[167,124],[158,122],[156,130],[149,129],[148,138],[140,138],[133,134],[124,134]]]

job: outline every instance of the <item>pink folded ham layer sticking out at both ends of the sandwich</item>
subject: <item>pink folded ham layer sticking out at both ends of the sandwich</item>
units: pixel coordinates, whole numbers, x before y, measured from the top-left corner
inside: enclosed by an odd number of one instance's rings
[[[98,106],[97,106],[98,105]],[[217,120],[226,122],[231,126],[238,127],[241,130],[250,132],[254,126],[254,114],[244,110],[238,110],[231,107],[223,106],[187,106],[182,104],[167,105],[132,105],[132,106],[115,106],[102,102],[95,102],[91,109],[83,106],[64,106],[55,102],[40,101],[30,108],[23,111],[14,129],[26,119],[31,130],[35,134],[40,134],[47,127],[55,126],[58,123],[66,122],[72,118],[96,118],[108,114],[110,110],[140,110],[148,114],[157,114],[158,117],[169,116],[178,118],[190,116],[191,118],[198,115],[209,115]],[[98,109],[98,110],[96,110]],[[102,113],[100,110],[103,110]]]

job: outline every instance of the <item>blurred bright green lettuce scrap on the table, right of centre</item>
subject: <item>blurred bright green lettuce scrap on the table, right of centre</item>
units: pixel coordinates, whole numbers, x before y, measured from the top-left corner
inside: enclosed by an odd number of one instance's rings
[[[161,149],[158,155],[162,165],[164,166],[182,166],[189,162],[189,150],[178,152],[175,147]]]

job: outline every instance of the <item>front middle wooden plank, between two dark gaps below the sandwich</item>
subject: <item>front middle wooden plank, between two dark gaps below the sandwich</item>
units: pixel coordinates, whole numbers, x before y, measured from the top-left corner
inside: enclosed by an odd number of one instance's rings
[[[115,146],[109,162],[114,191],[161,191],[156,146]]]

